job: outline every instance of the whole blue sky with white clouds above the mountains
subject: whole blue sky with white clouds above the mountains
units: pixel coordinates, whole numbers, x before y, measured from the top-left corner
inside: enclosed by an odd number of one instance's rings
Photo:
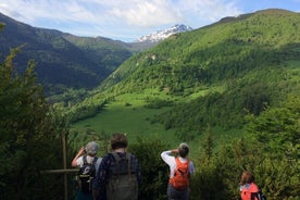
[[[264,9],[300,12],[300,0],[1,0],[0,12],[35,27],[134,41],[175,24],[199,28]]]

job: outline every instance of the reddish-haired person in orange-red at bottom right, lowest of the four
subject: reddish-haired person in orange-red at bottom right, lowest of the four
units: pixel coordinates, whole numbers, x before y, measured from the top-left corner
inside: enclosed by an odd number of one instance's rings
[[[241,200],[259,200],[259,187],[254,183],[252,173],[245,171],[240,177],[240,198]]]

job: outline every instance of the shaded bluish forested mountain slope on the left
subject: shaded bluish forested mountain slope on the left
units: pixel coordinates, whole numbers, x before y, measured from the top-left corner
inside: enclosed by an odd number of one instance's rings
[[[34,59],[38,78],[47,91],[93,88],[132,54],[123,43],[110,39],[80,38],[36,28],[1,13],[0,23],[5,24],[0,34],[1,54],[8,54],[10,48],[25,45],[15,62],[24,68],[27,61]]]

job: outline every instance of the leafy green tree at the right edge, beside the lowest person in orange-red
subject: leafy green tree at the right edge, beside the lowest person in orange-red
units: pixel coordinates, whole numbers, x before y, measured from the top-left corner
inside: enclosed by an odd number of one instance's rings
[[[248,116],[249,141],[262,151],[252,168],[268,199],[299,198],[299,97],[291,96],[280,107]]]

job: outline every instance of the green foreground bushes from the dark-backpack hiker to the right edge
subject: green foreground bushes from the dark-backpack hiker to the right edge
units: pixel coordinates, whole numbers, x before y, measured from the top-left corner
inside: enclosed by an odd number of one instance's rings
[[[299,110],[300,99],[289,97],[280,107],[267,108],[258,116],[249,115],[243,137],[221,147],[215,146],[209,126],[198,141],[200,150],[190,154],[196,165],[190,199],[239,199],[240,175],[247,170],[254,174],[267,199],[299,200]],[[142,171],[141,200],[166,199],[168,166],[160,154],[173,148],[149,138],[138,138],[129,146]]]

